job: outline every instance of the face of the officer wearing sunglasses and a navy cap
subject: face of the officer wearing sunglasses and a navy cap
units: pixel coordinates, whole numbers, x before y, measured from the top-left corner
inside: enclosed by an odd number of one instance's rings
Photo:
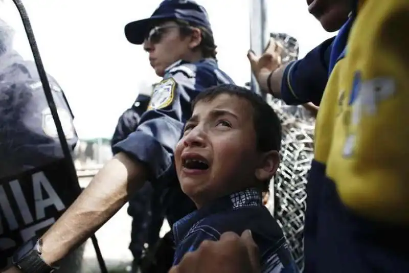
[[[191,37],[182,37],[179,31],[175,22],[168,21],[151,29],[145,39],[144,50],[149,53],[150,65],[160,77],[169,65],[184,59],[190,51]]]

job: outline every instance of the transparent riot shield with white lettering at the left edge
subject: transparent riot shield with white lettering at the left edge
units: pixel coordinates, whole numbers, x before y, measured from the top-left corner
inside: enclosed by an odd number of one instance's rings
[[[71,158],[78,141],[73,113],[57,81],[43,69],[24,6],[13,2],[0,2],[0,269],[81,191]],[[27,43],[19,48],[30,49],[31,58],[15,50],[18,31],[24,31],[18,34]],[[59,270],[80,271],[82,251]]]

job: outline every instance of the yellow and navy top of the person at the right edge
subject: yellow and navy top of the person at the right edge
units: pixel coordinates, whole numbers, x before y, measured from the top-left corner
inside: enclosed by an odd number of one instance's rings
[[[320,105],[307,183],[308,273],[409,268],[408,131],[396,119],[407,113],[407,47],[390,36],[403,33],[408,4],[357,2],[332,43],[325,90],[282,89],[287,102]]]

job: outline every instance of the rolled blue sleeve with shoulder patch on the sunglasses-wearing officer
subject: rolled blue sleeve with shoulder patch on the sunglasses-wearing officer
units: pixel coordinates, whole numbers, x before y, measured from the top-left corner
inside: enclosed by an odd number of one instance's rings
[[[113,146],[113,152],[125,152],[145,163],[150,169],[150,179],[160,178],[171,168],[183,123],[191,116],[190,101],[207,87],[200,84],[203,77],[188,66],[172,69],[154,87],[137,130]]]

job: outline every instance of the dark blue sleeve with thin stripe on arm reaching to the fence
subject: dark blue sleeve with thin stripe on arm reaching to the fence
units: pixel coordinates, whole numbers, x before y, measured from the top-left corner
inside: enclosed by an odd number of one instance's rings
[[[287,65],[281,82],[285,103],[298,105],[312,102],[320,105],[328,81],[328,65],[334,38],[310,51],[303,59]]]

